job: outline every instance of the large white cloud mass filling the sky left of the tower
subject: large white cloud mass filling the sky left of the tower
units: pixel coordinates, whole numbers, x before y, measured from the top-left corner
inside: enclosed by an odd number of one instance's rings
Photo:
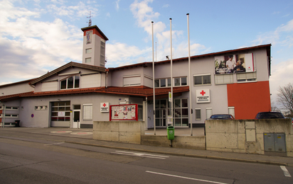
[[[38,11],[17,8],[7,1],[1,1],[0,7],[0,79],[33,79],[67,62],[81,61],[79,28],[59,18],[34,21],[40,16]]]

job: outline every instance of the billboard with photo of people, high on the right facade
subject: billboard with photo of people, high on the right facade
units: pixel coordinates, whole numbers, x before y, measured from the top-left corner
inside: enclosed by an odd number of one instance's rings
[[[255,71],[253,54],[234,54],[215,57],[215,74]]]

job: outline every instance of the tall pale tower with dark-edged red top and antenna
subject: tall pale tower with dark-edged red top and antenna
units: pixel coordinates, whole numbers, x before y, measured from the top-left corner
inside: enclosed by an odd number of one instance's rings
[[[81,30],[83,31],[82,64],[105,67],[106,41],[108,38],[97,25],[81,28]]]

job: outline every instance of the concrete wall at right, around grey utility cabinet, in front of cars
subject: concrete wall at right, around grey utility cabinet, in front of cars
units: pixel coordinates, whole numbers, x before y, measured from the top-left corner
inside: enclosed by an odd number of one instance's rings
[[[287,156],[293,156],[292,120],[207,120],[206,150],[265,154],[264,133],[285,134]]]

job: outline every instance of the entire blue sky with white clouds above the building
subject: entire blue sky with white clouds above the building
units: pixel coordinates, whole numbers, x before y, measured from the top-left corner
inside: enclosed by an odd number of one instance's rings
[[[109,38],[106,67],[272,44],[270,91],[293,83],[293,1],[247,0],[0,0],[0,85],[33,79],[82,62],[81,28]]]

